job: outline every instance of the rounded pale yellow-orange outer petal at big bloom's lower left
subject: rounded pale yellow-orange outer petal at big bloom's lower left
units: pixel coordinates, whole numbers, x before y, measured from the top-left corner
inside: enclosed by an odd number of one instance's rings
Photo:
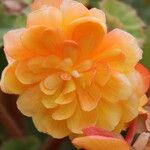
[[[28,88],[17,100],[18,109],[26,116],[32,116],[41,105],[42,93],[38,86]]]

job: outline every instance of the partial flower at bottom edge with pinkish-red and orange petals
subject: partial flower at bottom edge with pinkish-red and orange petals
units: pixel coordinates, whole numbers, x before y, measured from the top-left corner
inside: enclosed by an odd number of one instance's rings
[[[94,127],[83,130],[85,136],[75,138],[72,142],[79,148],[85,150],[129,150],[130,146],[123,140],[117,138],[111,132]]]

